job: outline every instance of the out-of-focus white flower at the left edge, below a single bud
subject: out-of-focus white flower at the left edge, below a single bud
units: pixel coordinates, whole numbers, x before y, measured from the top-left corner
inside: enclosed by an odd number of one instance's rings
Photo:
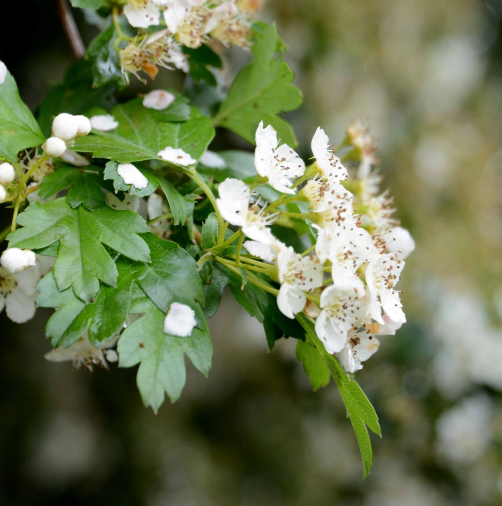
[[[36,257],[36,265],[11,274],[0,267],[0,312],[6,309],[7,316],[16,323],[24,323],[35,314],[35,287],[40,278],[54,264],[53,257]]]

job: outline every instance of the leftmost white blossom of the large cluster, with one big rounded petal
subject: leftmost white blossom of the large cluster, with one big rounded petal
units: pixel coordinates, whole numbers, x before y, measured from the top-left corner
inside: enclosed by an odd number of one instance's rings
[[[258,202],[250,205],[251,190],[245,183],[239,179],[225,179],[218,193],[216,205],[224,220],[242,227],[244,234],[255,241],[271,244],[275,240],[268,228],[275,216],[265,216]]]

